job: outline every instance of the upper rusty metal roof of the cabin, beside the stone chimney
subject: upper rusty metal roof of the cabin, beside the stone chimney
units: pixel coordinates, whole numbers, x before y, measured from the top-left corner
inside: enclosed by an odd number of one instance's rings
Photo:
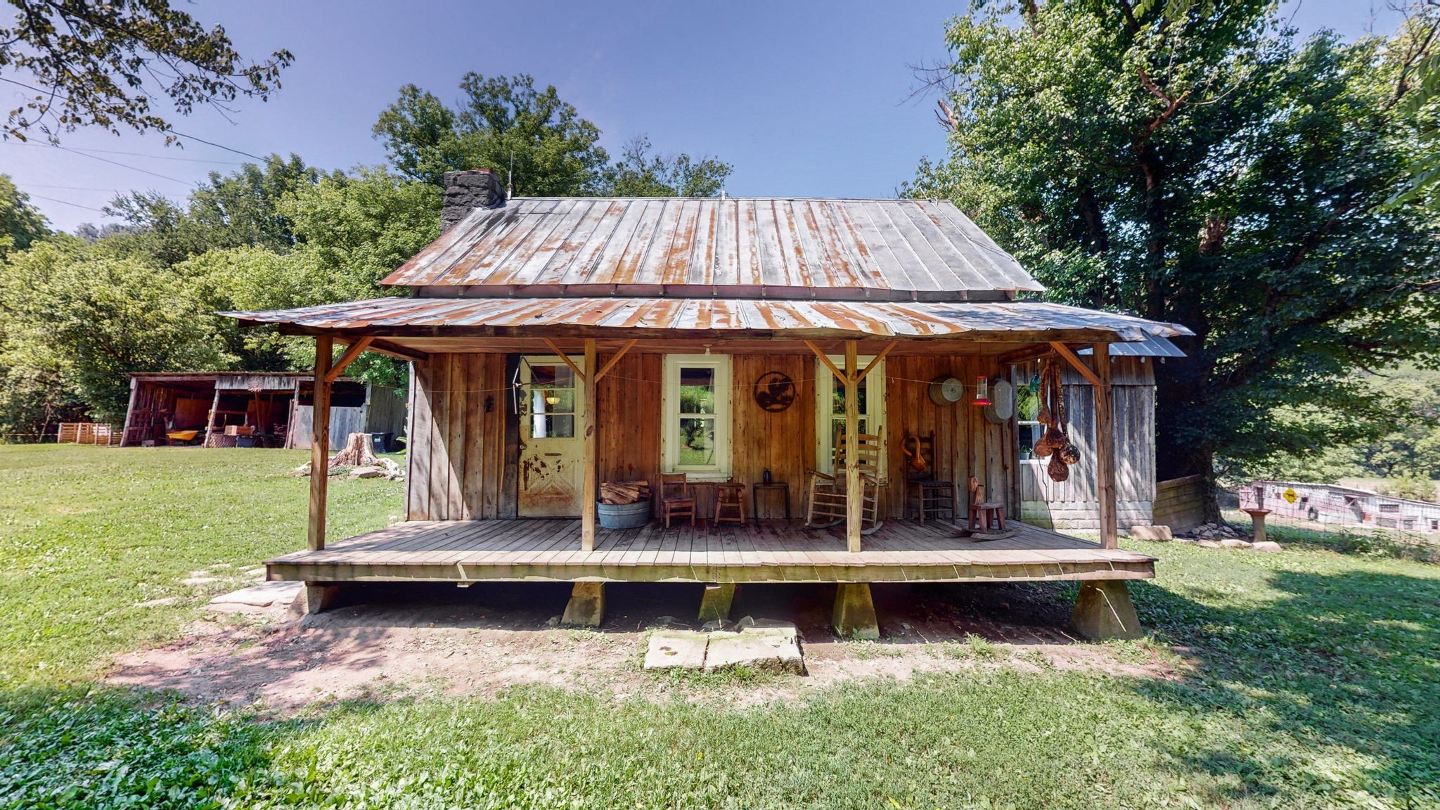
[[[1044,291],[945,200],[526,197],[384,284],[462,295],[1004,300]]]

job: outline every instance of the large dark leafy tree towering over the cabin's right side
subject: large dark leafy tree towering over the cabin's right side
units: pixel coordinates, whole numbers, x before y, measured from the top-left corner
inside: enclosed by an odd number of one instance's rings
[[[949,154],[909,193],[1054,298],[1195,330],[1158,366],[1161,474],[1315,453],[1390,412],[1351,372],[1436,356],[1436,222],[1377,208],[1416,144],[1414,36],[1297,43],[1267,0],[975,0],[948,30]]]

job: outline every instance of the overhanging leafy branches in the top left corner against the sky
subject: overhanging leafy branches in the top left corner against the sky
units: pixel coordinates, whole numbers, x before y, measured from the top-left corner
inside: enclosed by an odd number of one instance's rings
[[[206,29],[167,0],[10,0],[0,27],[0,82],[29,91],[10,110],[0,137],[27,140],[95,125],[118,133],[177,134],[154,111],[168,97],[181,115],[197,104],[230,112],[236,98],[269,98],[294,56],[276,50],[248,62],[220,26]]]

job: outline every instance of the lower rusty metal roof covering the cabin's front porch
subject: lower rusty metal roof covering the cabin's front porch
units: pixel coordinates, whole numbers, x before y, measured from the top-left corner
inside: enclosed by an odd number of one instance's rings
[[[1145,340],[1184,326],[1045,301],[778,301],[749,298],[372,298],[295,310],[222,313],[284,331],[382,336],[955,337]]]

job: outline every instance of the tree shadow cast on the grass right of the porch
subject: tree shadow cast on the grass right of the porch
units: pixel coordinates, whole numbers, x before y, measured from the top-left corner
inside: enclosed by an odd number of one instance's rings
[[[1142,621],[1197,664],[1130,685],[1211,729],[1168,751],[1175,767],[1234,800],[1440,804],[1440,579],[1282,569],[1269,585],[1282,597],[1253,607],[1132,585]]]

